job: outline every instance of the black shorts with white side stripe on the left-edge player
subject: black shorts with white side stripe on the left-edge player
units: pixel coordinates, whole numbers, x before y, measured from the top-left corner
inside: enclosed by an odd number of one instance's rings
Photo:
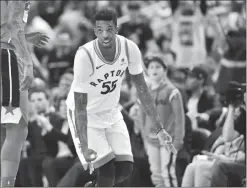
[[[14,51],[9,50],[9,52],[10,55],[8,53],[8,50],[1,49],[2,106],[11,105],[13,107],[19,107],[20,90],[19,90],[18,63]],[[11,66],[9,66],[9,58],[10,58]],[[9,72],[10,67],[11,67],[11,74]]]

